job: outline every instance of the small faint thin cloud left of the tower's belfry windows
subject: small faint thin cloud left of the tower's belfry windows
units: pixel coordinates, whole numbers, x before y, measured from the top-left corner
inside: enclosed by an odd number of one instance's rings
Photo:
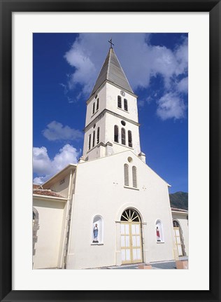
[[[43,130],[43,136],[50,141],[78,140],[83,138],[83,133],[67,125],[64,126],[57,121],[52,121],[47,125],[47,128]]]

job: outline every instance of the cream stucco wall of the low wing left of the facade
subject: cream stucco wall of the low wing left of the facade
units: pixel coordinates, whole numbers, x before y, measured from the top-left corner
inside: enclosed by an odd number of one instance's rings
[[[66,203],[34,198],[33,206],[39,215],[33,268],[57,268],[60,266],[62,252]]]

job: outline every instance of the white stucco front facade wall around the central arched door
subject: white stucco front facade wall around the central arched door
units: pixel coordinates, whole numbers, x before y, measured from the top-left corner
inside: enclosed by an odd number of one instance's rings
[[[131,156],[130,164],[127,158]],[[137,167],[138,190],[124,188],[124,163]],[[174,259],[168,186],[131,151],[78,164],[67,268],[121,264],[120,217],[128,207],[141,213],[144,261]],[[94,216],[104,219],[104,245],[92,245]],[[164,242],[157,243],[155,223],[162,221]]]

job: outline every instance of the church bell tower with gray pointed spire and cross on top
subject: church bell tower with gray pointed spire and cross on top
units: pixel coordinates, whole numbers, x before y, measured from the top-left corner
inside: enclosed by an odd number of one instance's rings
[[[112,41],[109,42],[106,60],[87,100],[83,158],[93,160],[131,150],[145,162],[140,147],[137,96]]]

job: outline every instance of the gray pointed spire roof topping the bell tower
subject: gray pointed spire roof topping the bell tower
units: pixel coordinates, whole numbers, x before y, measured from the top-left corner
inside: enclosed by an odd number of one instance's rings
[[[94,95],[97,89],[100,87],[104,81],[109,81],[114,83],[115,85],[120,86],[123,90],[127,90],[131,93],[134,93],[127,81],[127,77],[124,74],[122,67],[120,66],[120,62],[115,55],[113,48],[110,47],[108,51],[108,55],[106,56],[106,60],[101,68],[97,81],[94,85],[92,93],[90,96]]]

